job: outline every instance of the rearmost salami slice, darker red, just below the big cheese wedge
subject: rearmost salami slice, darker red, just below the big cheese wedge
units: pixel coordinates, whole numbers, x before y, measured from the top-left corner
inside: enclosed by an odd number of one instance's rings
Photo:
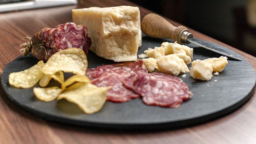
[[[126,77],[136,74],[138,71],[147,73],[147,69],[143,65],[142,60],[137,60],[135,63],[119,63],[114,65],[102,65],[97,67],[97,72],[93,73],[93,77],[100,77],[106,73],[121,74]]]

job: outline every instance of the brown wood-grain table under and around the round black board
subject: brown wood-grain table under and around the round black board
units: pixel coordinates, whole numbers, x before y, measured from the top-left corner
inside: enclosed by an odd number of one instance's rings
[[[79,5],[27,10],[0,14],[0,73],[5,65],[21,55],[19,45],[23,37],[32,36],[44,27],[55,27],[71,22],[71,9],[82,7],[112,7],[120,5],[137,6],[125,0],[86,0]],[[141,16],[151,11],[140,7]],[[171,20],[170,20],[171,21]],[[173,21],[171,21],[173,22]],[[175,23],[175,22],[174,22]],[[177,26],[177,23],[175,23]],[[191,30],[195,37],[223,44],[211,37]],[[246,58],[256,70],[256,58],[233,49]],[[0,143],[33,144],[221,144],[256,143],[256,93],[240,109],[222,118],[189,128],[164,131],[128,132],[124,130],[97,130],[64,125],[24,111],[7,98],[0,88]]]

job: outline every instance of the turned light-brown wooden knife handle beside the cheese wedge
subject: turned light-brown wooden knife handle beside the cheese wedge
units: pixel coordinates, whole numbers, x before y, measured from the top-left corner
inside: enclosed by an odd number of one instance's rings
[[[186,39],[184,39],[184,32],[189,32],[186,27],[173,26],[162,16],[153,13],[144,16],[141,22],[141,28],[142,31],[150,37],[170,38],[179,44],[184,44],[184,42],[186,42]]]

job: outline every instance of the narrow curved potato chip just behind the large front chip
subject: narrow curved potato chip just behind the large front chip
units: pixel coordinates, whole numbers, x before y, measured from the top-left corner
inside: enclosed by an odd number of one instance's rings
[[[90,79],[84,75],[74,75],[70,78],[68,78],[62,85],[61,88],[65,89],[67,86],[70,86],[74,82],[84,82],[84,83],[90,83]]]

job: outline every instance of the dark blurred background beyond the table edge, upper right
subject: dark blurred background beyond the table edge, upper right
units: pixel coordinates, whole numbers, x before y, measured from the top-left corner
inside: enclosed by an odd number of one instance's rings
[[[256,56],[256,0],[130,0]]]

